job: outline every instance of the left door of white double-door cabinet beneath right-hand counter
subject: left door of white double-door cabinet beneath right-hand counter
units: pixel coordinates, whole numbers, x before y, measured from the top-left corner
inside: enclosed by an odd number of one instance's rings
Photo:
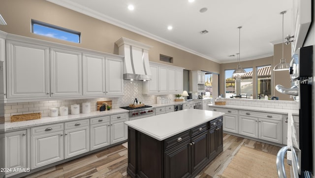
[[[258,119],[240,116],[239,134],[258,138]]]

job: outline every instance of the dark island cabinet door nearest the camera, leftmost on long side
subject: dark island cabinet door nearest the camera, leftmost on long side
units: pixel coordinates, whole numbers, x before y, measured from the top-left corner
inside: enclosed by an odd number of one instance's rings
[[[190,139],[164,152],[164,178],[187,178],[191,175]]]

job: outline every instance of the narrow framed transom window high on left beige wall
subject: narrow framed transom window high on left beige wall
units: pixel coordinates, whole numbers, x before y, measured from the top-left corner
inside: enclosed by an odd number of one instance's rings
[[[57,38],[74,43],[81,43],[81,32],[32,20],[32,33]]]

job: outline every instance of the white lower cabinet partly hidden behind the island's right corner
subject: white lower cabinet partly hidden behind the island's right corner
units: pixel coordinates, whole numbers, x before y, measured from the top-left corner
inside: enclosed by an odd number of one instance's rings
[[[217,107],[209,107],[209,110],[225,113],[223,116],[223,130],[238,133],[238,110]]]

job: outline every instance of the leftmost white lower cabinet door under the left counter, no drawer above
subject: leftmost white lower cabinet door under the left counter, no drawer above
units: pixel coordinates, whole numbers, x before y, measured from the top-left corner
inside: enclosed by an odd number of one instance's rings
[[[5,166],[14,174],[14,169],[27,169],[27,130],[7,132],[5,135]]]

